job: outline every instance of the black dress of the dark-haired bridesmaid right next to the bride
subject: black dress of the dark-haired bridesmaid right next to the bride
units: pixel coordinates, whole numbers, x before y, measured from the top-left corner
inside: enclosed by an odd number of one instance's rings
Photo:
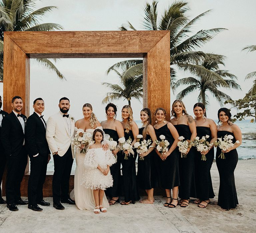
[[[103,131],[106,134],[109,134],[110,137],[113,138],[113,141],[116,141],[118,143],[119,137],[118,137],[116,130],[104,128]],[[116,163],[114,163],[110,166],[110,173],[113,178],[113,186],[107,188],[105,191],[106,195],[109,196],[110,199],[112,197],[119,197],[119,195],[121,194],[121,192],[120,192],[120,189],[121,189],[121,186],[120,186],[120,182],[121,182],[121,157],[120,157],[120,154],[122,154],[122,152],[119,151],[116,154],[116,158],[117,158]]]

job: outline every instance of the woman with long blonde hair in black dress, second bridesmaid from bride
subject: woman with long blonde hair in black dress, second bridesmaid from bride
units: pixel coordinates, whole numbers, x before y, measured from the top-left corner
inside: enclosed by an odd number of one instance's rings
[[[136,142],[136,136],[139,134],[139,128],[132,116],[132,108],[129,105],[125,105],[122,108],[122,126],[124,131],[125,140],[129,137],[132,139],[132,145]],[[135,151],[136,152],[136,151]],[[125,153],[121,155],[122,163],[122,174],[123,174],[123,184],[124,184],[124,201],[121,205],[128,205],[130,202],[135,203],[139,199],[139,194],[136,184],[136,168],[135,160],[136,153],[128,156],[128,159],[124,159]]]

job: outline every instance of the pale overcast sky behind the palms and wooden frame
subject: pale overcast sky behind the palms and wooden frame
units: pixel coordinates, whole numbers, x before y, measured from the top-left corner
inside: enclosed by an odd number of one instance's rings
[[[173,1],[159,0],[158,14]],[[255,0],[190,0],[188,17],[195,16],[212,9],[210,13],[201,18],[195,25],[194,32],[201,29],[226,28],[211,42],[200,48],[204,52],[212,52],[226,56],[225,70],[238,77],[242,91],[227,91],[233,99],[242,98],[250,89],[253,80],[246,80],[246,74],[255,71],[256,53],[242,52],[247,45],[255,45]],[[42,19],[42,22],[59,23],[65,31],[113,31],[118,30],[123,23],[129,21],[137,30],[143,30],[144,0],[42,0],[36,2],[35,9],[44,6],[57,6]],[[45,101],[45,118],[55,114],[58,109],[59,99],[66,96],[70,99],[70,114],[76,119],[82,118],[82,106],[91,103],[93,111],[99,120],[105,119],[105,105],[102,99],[107,90],[101,83],[118,83],[118,77],[106,75],[106,70],[118,61],[125,59],[61,59],[56,63],[57,68],[65,76],[66,81],[61,81],[53,73],[38,65],[35,61],[30,63],[30,114],[33,113],[33,100],[42,97]],[[178,79],[191,76],[189,73],[178,71]],[[185,87],[183,87],[185,88]],[[0,95],[2,96],[2,84]],[[171,94],[171,103],[182,89]],[[183,101],[187,112],[193,115],[193,105],[197,102],[199,92],[189,95]],[[142,100],[141,100],[142,101]],[[209,94],[210,106],[207,116],[217,118],[220,105]],[[114,101],[118,106],[118,119],[121,109],[127,104],[126,100]],[[139,120],[142,102],[131,100],[134,119]],[[228,107],[228,106],[227,106]],[[154,110],[153,110],[154,111]],[[232,110],[235,114],[236,110]]]

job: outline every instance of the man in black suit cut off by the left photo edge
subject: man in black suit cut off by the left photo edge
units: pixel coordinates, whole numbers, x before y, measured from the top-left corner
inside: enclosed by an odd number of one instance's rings
[[[2,97],[0,96],[0,134],[1,134],[1,126],[2,126],[2,120],[5,116],[8,115],[5,111],[1,110],[2,108]],[[2,142],[0,141],[0,204],[6,204],[6,201],[2,198],[2,189],[1,189],[1,183],[3,179],[3,173],[6,163],[6,157],[4,154],[4,148],[2,145]]]

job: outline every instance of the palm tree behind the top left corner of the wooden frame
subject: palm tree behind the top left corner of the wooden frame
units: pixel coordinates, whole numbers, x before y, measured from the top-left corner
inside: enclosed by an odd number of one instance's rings
[[[3,80],[3,44],[5,31],[55,31],[63,29],[56,23],[40,24],[39,20],[57,8],[47,6],[34,11],[35,0],[0,0],[0,80]],[[57,59],[36,59],[46,68],[54,71],[60,79],[64,76],[51,62]]]

